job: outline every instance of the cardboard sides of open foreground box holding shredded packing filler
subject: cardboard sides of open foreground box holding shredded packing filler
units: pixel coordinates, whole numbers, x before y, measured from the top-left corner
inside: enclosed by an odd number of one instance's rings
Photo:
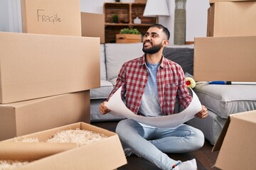
[[[45,157],[43,159],[38,159],[37,161],[21,166],[21,168],[18,169],[110,170],[117,169],[117,167],[127,164],[127,159],[124,156],[124,151],[122,149],[122,145],[118,135],[114,132],[110,132],[102,128],[97,128],[87,123],[74,123],[72,125],[65,125],[60,128],[54,128],[51,130],[33,133],[31,135],[25,135],[23,137],[37,137],[39,141],[45,141],[46,139],[54,135],[56,132],[70,129],[75,130],[77,128],[80,128],[81,130],[90,130],[93,132],[102,133],[107,135],[108,137],[103,140],[93,142],[88,145],[84,145],[82,147],[68,149],[65,152],[60,152],[58,154],[53,154],[49,157]],[[18,140],[21,138],[22,137],[18,137]],[[14,140],[0,142],[0,145],[6,145],[6,142],[11,143],[14,142]],[[43,149],[41,149],[41,151],[43,151]]]

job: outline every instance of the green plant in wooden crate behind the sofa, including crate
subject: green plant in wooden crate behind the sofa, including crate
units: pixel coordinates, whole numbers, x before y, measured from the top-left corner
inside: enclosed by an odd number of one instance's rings
[[[116,35],[117,43],[142,42],[142,34],[136,28],[123,28]]]

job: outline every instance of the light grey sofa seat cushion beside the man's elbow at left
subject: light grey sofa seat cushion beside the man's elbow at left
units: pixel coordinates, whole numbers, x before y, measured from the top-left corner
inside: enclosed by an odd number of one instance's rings
[[[113,84],[107,80],[100,80],[100,88],[90,90],[90,99],[107,98],[113,89]]]

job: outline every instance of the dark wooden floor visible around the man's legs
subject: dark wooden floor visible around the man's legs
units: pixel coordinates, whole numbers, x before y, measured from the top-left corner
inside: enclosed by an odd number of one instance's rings
[[[91,123],[91,124],[114,132],[117,123],[118,123],[117,121],[113,121],[113,122]],[[168,155],[172,159],[181,160],[181,161],[187,161],[187,160],[196,158],[198,170],[205,170],[205,169],[217,170],[217,168],[212,168],[212,166],[215,164],[215,160],[218,156],[218,152],[211,152],[212,148],[213,148],[213,145],[211,145],[210,142],[206,140],[203,147],[196,151],[188,152],[184,154],[168,154]],[[127,162],[128,164],[119,167],[118,170],[134,170],[134,169],[159,170],[159,168],[156,167],[154,164],[151,164],[151,162],[148,162],[146,159],[137,157],[135,155],[127,157]]]

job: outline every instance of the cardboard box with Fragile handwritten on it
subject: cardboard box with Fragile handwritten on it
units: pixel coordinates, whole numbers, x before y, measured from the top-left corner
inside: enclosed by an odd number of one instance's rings
[[[23,33],[81,36],[80,0],[21,0]]]

